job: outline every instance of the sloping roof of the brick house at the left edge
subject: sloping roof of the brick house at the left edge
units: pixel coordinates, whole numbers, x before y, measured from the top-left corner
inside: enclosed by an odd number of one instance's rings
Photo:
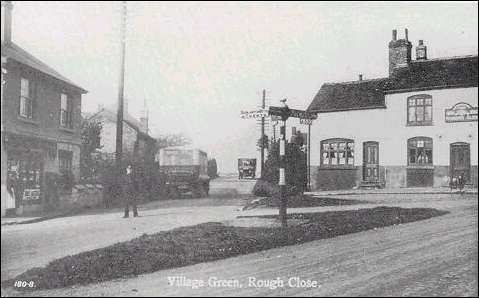
[[[15,60],[21,64],[24,64],[28,67],[31,67],[35,70],[38,70],[44,74],[47,74],[55,79],[58,79],[70,86],[73,86],[79,89],[82,93],[87,93],[85,89],[78,86],[77,84],[73,83],[59,72],[45,64],[44,62],[40,61],[39,59],[35,58],[32,54],[28,53],[18,45],[13,42],[8,44],[2,42],[2,56],[5,56],[9,59]]]

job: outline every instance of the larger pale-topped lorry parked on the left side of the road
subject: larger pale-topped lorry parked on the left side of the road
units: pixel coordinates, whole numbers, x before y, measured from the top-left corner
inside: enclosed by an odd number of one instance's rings
[[[191,192],[206,197],[210,190],[207,174],[208,155],[199,149],[184,146],[160,149],[157,154],[160,183],[171,195]]]

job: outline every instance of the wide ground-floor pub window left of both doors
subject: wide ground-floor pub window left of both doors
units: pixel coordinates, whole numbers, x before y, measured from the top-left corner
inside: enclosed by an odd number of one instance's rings
[[[354,165],[354,141],[330,139],[321,142],[321,165],[346,167]]]

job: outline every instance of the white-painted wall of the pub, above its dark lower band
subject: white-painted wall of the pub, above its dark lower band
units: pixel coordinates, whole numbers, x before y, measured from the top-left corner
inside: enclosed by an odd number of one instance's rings
[[[432,126],[407,126],[407,98],[416,94],[432,96]],[[445,121],[445,110],[459,102],[477,107],[477,87],[389,94],[386,95],[386,109],[320,113],[311,127],[311,165],[320,165],[321,140],[348,138],[354,140],[356,166],[362,165],[362,144],[366,141],[379,142],[382,166],[406,166],[407,140],[417,136],[433,139],[434,165],[449,165],[449,145],[454,142],[469,143],[471,165],[477,165],[477,121]]]

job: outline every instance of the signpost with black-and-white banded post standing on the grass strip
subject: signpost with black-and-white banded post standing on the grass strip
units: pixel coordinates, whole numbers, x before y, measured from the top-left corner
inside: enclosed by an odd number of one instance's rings
[[[280,204],[279,204],[279,218],[281,220],[281,226],[286,228],[288,226],[287,222],[287,205],[288,200],[285,195],[286,188],[286,120],[289,117],[304,119],[304,121],[312,121],[317,119],[316,114],[311,114],[303,110],[290,109],[286,105],[286,99],[281,100],[283,103],[282,107],[269,107],[269,114],[272,116],[280,117],[282,120],[282,126],[280,127],[280,143],[279,143],[279,155],[280,155],[280,167],[279,167],[279,187],[280,187]]]

